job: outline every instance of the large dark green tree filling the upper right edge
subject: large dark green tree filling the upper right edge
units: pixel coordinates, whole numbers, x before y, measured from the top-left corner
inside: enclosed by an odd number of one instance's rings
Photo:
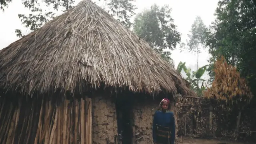
[[[208,30],[206,43],[212,55],[209,74],[221,55],[226,62],[237,66],[251,87],[256,86],[256,7],[252,0],[220,0],[216,20]],[[256,91],[254,90],[254,94]]]

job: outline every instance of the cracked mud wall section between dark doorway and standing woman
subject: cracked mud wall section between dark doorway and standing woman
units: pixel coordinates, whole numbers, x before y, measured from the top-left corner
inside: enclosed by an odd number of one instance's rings
[[[152,123],[154,112],[159,108],[159,103],[143,102],[134,104],[134,129],[137,144],[153,144]]]

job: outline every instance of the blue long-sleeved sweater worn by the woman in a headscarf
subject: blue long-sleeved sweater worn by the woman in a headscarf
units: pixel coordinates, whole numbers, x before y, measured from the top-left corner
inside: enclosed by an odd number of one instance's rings
[[[156,142],[156,124],[164,127],[170,127],[171,130],[171,144],[174,144],[175,139],[175,121],[173,112],[156,111],[153,119],[153,140]]]

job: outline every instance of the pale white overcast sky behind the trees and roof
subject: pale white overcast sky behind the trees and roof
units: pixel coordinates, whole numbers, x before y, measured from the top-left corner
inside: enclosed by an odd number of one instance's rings
[[[81,0],[76,0],[75,4],[78,4]],[[164,6],[168,4],[172,8],[172,18],[174,24],[177,26],[177,30],[182,34],[182,42],[186,42],[187,35],[191,29],[196,16],[200,16],[206,26],[209,26],[214,21],[214,12],[217,8],[218,0],[136,0],[135,2],[136,13],[142,12],[146,8],[150,8],[153,4],[158,6]],[[22,26],[18,14],[29,14],[30,11],[22,5],[21,0],[16,0],[9,4],[4,12],[0,12],[0,50],[5,48],[12,42],[15,42],[19,38],[16,36],[15,29],[21,29],[24,33],[29,33],[29,30]],[[196,70],[197,56],[191,52],[180,52],[179,46],[176,50],[172,51],[171,55],[174,60],[175,67],[178,66],[180,61],[186,62],[186,66],[192,70]],[[199,55],[199,67],[208,64],[210,55],[208,50],[204,50]],[[184,77],[185,74],[182,72]],[[203,76],[206,80],[209,78],[205,73]]]

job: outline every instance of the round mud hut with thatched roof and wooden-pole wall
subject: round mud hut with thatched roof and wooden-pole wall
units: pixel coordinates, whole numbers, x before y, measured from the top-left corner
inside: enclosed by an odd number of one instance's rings
[[[0,74],[1,144],[114,144],[120,131],[126,143],[148,134],[149,144],[153,99],[190,94],[176,70],[90,0],[2,49]]]

